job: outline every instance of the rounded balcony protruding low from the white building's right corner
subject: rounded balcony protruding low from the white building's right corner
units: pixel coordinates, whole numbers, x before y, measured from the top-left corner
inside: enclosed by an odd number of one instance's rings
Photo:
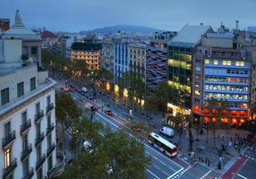
[[[58,151],[56,158],[57,158],[57,164],[50,171],[48,171],[47,173],[48,178],[56,178],[62,175],[64,172],[64,166],[65,166],[64,153],[61,151]]]

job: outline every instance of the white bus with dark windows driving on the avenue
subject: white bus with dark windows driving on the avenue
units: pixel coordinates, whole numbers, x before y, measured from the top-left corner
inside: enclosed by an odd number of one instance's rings
[[[148,137],[149,144],[161,150],[167,156],[174,158],[177,155],[177,147],[169,141],[159,136],[155,132],[151,132]]]

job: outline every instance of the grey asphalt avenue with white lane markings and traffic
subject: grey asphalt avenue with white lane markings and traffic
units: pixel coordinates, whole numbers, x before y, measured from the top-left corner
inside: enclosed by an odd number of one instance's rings
[[[90,107],[94,104],[92,101],[84,98],[78,93],[71,93],[73,98],[79,102],[81,107]],[[99,107],[99,106],[98,106]],[[116,115],[106,115],[102,113],[101,110],[98,110],[94,116],[94,120],[100,121],[105,124],[107,127],[110,127],[112,130],[119,130],[125,127],[126,121]],[[132,135],[132,134],[131,134]],[[148,178],[155,179],[171,179],[171,178],[203,178],[206,176],[209,177],[218,177],[218,174],[210,171],[207,167],[201,166],[196,162],[188,162],[187,158],[168,158],[157,149],[152,148],[145,141],[142,141],[145,145],[146,155],[152,158],[151,165],[146,170],[146,175]]]

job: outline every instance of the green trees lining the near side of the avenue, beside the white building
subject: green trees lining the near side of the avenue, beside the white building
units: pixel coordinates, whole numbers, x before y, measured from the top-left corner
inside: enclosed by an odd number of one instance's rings
[[[75,153],[60,178],[146,178],[150,158],[141,142],[123,130],[113,132],[98,122],[90,123],[68,93],[56,93],[55,110],[63,139],[64,132],[72,130],[70,149]],[[90,149],[82,148],[83,141],[90,142]]]

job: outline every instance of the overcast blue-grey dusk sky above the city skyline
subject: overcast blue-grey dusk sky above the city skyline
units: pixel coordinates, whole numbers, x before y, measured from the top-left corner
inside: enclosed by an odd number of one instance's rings
[[[186,23],[223,21],[230,29],[256,26],[256,0],[0,0],[0,18],[20,9],[28,28],[80,31],[117,24],[180,30]]]

